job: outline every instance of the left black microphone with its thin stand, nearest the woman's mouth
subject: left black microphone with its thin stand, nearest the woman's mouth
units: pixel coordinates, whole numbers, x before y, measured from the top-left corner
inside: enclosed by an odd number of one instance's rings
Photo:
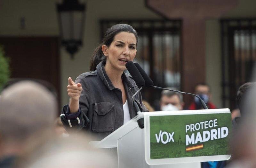
[[[145,85],[145,81],[143,79],[143,77],[141,76],[139,70],[135,67],[134,63],[132,61],[128,61],[125,64],[125,67],[127,68],[127,70],[129,71],[129,73],[132,75],[133,80],[135,81],[136,85],[140,88],[135,94],[133,94],[132,96],[132,100],[133,100],[133,106],[135,108],[135,110],[137,111],[137,114],[140,114],[140,108],[138,103],[134,100],[134,96],[136,94],[138,94],[140,92],[140,90],[142,89],[142,87]],[[140,118],[138,121],[138,125],[140,128],[144,128],[144,117]]]

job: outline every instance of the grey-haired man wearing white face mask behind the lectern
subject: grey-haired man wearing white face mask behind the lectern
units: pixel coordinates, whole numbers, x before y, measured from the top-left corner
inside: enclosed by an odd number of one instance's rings
[[[168,88],[177,90],[176,88]],[[163,90],[161,92],[160,108],[161,111],[176,111],[183,110],[184,102],[183,96],[180,93]]]

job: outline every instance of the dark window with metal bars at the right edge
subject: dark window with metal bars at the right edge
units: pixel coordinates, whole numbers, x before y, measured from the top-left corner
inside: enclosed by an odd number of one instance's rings
[[[238,88],[251,81],[256,60],[256,19],[222,19],[222,106],[237,108]]]

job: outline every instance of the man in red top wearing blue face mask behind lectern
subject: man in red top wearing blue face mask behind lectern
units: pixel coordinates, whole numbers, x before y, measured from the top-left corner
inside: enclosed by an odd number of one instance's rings
[[[208,109],[216,108],[216,106],[211,102],[212,94],[211,94],[209,85],[207,85],[206,83],[198,83],[195,86],[195,94],[204,101]],[[199,109],[204,109],[204,108],[202,107],[200,100],[195,96],[194,101],[189,105],[188,110],[199,110]]]

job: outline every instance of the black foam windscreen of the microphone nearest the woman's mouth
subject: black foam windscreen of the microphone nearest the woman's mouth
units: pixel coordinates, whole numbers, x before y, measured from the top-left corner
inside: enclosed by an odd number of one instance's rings
[[[129,73],[132,75],[132,78],[135,81],[135,83],[138,86],[138,88],[141,88],[142,86],[145,85],[145,81],[144,81],[143,77],[141,76],[140,72],[135,67],[135,65],[133,64],[132,61],[128,61],[125,64],[125,67],[129,71]]]

